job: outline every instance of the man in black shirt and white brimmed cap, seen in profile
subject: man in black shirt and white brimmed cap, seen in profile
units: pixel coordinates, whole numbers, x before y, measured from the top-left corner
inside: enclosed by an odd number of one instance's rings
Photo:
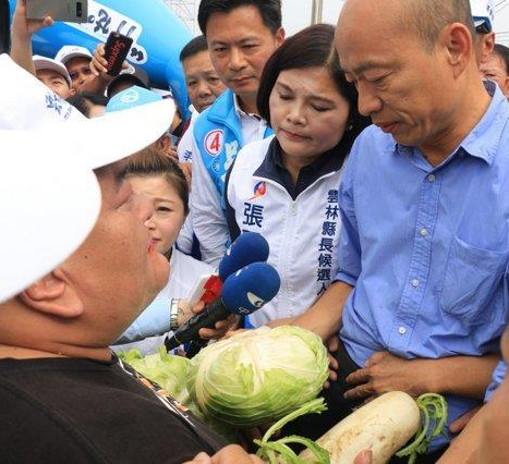
[[[15,70],[29,77],[0,60],[1,75]],[[0,95],[0,122],[14,126],[11,109]],[[45,131],[0,131],[2,459],[182,463],[223,444],[109,351],[168,279],[167,260],[149,245],[152,207],[123,181],[119,160],[154,142],[173,111],[161,100]],[[113,142],[70,154],[82,133]],[[85,239],[99,208],[92,168],[102,204]]]

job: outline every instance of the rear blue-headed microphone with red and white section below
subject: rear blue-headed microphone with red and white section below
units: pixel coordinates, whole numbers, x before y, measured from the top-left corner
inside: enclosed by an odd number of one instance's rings
[[[267,241],[256,232],[244,232],[228,247],[219,267],[211,276],[202,276],[191,291],[187,302],[194,306],[198,301],[211,303],[221,294],[222,282],[229,276],[252,262],[266,261],[269,255]]]

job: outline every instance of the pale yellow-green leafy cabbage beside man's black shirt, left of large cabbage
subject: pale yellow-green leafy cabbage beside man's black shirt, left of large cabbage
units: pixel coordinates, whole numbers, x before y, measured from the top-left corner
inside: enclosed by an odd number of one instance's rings
[[[168,354],[165,346],[159,346],[159,353],[145,357],[137,350],[122,352],[119,357],[142,376],[162,387],[179,403],[190,406],[185,384],[190,361],[186,357]]]

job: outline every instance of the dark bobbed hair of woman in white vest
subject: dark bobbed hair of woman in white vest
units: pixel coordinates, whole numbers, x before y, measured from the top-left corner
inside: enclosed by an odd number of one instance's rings
[[[257,95],[258,112],[270,123],[269,99],[279,74],[286,70],[302,68],[326,68],[340,95],[350,105],[349,130],[342,143],[353,144],[361,131],[371,124],[369,119],[359,113],[357,90],[347,81],[334,48],[335,28],[329,24],[315,24],[290,37],[279,47],[265,64]]]

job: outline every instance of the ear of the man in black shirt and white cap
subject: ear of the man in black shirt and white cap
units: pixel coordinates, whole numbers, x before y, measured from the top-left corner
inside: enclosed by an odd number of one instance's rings
[[[20,294],[33,310],[73,318],[83,314],[84,305],[62,270],[56,269]]]

